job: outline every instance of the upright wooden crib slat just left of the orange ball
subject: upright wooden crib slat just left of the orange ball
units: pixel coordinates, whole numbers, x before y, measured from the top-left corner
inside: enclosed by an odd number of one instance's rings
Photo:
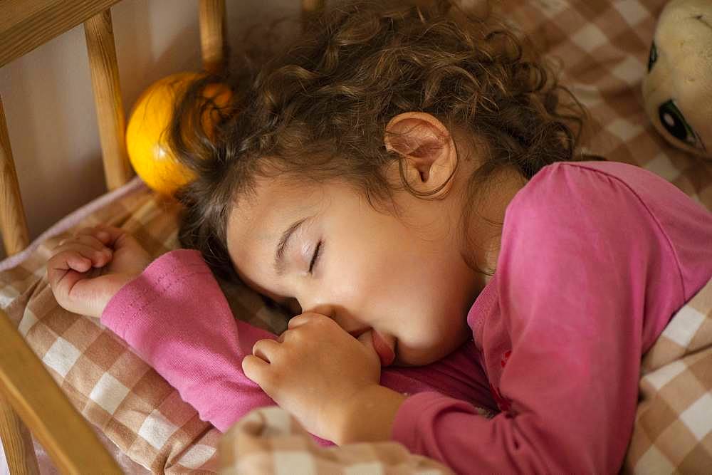
[[[128,182],[133,176],[133,170],[126,153],[126,120],[121,101],[111,11],[103,11],[88,19],[84,24],[84,33],[106,186],[112,190]]]

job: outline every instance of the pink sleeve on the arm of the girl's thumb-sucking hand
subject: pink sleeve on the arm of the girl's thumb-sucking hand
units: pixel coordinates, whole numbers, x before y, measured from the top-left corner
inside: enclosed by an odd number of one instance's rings
[[[511,356],[495,384],[511,411],[484,419],[423,393],[399,409],[393,437],[456,472],[615,473],[634,422],[644,326],[684,303],[679,263],[615,177],[555,167],[530,185],[508,207],[496,276]],[[689,200],[678,212],[697,211]],[[684,244],[701,250],[710,238]],[[483,335],[485,354],[487,344]]]

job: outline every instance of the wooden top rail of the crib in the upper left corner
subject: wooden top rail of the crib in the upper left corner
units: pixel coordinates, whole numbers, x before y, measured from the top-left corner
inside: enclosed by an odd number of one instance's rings
[[[120,0],[0,0],[0,68]]]

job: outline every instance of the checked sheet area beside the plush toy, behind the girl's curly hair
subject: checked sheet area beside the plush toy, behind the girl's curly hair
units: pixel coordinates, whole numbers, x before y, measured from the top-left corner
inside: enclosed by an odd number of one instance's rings
[[[659,174],[712,209],[712,161],[669,145],[648,120],[642,78],[667,0],[494,0],[562,69],[593,119],[590,152]],[[701,78],[702,80],[703,78]],[[712,78],[710,78],[712,80]]]

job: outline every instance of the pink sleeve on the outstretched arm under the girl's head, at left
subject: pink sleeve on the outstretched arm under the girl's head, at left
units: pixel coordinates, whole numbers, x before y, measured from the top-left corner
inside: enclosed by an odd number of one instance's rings
[[[257,340],[276,336],[234,318],[198,251],[153,261],[111,299],[101,321],[221,432],[251,409],[274,404],[241,362]]]

